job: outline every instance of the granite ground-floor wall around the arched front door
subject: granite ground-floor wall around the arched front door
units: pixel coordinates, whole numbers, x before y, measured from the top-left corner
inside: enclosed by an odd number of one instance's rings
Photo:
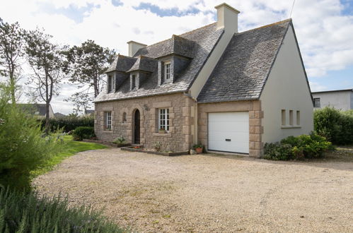
[[[177,93],[152,97],[98,102],[96,106],[95,132],[98,140],[114,141],[123,136],[129,143],[134,140],[134,112],[140,112],[140,143],[153,148],[162,143],[162,150],[185,151],[194,143],[194,101]],[[158,133],[158,109],[168,108],[170,114],[169,133]],[[112,112],[112,130],[104,130],[104,112]],[[123,114],[126,113],[126,121]]]

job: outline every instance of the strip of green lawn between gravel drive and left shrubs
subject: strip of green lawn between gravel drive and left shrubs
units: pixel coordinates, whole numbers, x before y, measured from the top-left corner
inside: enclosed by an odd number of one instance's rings
[[[55,165],[58,165],[62,160],[70,157],[71,155],[75,155],[81,151],[86,150],[99,150],[108,148],[105,145],[97,144],[97,143],[85,143],[82,141],[73,141],[72,136],[64,136],[64,145],[62,146],[62,151],[58,155],[53,156],[44,167],[40,169],[36,169],[31,172],[33,177],[37,177],[41,174],[45,174],[53,169]]]

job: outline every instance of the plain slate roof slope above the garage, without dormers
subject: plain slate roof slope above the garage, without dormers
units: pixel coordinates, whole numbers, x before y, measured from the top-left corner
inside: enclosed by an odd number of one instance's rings
[[[197,101],[258,99],[290,23],[291,19],[235,34]]]

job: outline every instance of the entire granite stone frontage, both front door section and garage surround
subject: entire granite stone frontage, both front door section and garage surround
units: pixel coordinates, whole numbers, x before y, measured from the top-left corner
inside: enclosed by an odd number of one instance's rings
[[[158,109],[169,109],[170,131],[158,133]],[[141,144],[154,148],[161,142],[162,150],[190,150],[195,141],[195,102],[183,94],[115,100],[96,103],[95,130],[98,140],[114,141],[123,136],[129,143],[134,141],[134,112],[140,112]],[[198,138],[207,150],[207,117],[209,112],[249,112],[249,155],[263,155],[260,100],[197,104]],[[112,130],[104,130],[104,112],[112,112]]]

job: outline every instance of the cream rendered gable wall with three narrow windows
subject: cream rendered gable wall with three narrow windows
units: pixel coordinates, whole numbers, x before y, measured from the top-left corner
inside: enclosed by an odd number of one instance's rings
[[[291,25],[260,96],[264,118],[262,142],[280,141],[313,131],[313,102],[301,64]],[[282,126],[282,109],[286,110],[287,126]],[[289,124],[289,110],[294,112],[294,126]],[[296,111],[300,111],[300,125],[296,125]]]

